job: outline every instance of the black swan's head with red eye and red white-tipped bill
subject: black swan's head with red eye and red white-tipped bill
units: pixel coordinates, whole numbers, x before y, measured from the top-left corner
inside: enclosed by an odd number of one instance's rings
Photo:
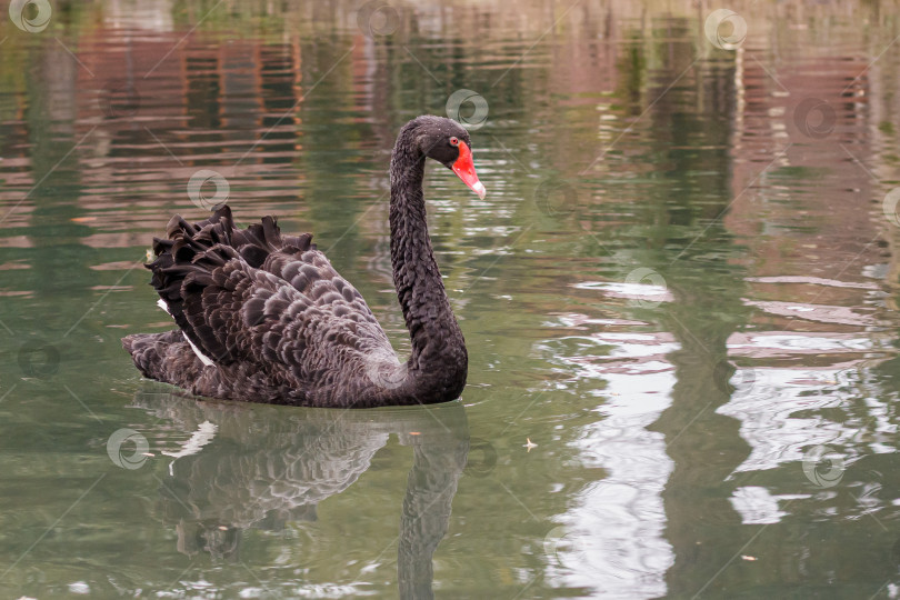
[[[419,150],[434,159],[459,177],[463,183],[483,199],[488,190],[478,180],[472,162],[472,146],[469,132],[452,119],[423,116],[410,121],[414,127]]]

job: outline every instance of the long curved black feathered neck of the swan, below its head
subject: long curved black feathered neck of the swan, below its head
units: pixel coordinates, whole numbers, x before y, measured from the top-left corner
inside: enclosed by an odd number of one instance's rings
[[[391,158],[391,263],[412,341],[410,374],[459,393],[468,357],[428,236],[423,177],[424,157],[401,133]]]

